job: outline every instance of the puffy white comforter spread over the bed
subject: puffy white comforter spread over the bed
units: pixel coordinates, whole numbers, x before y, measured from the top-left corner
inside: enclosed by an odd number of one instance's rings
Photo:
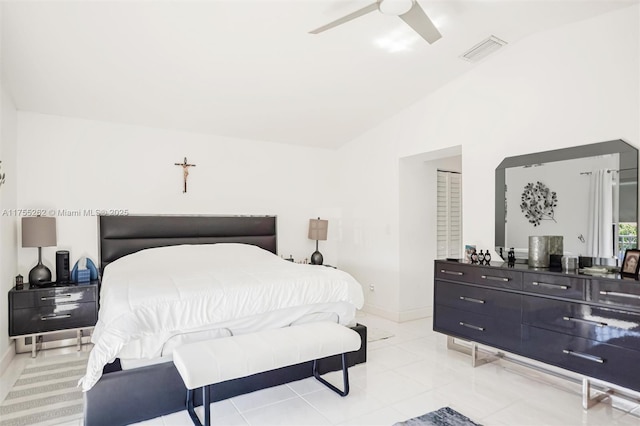
[[[82,389],[125,345],[145,336],[328,302],[360,309],[362,287],[346,272],[288,262],[256,246],[183,245],[122,257],[104,271]]]

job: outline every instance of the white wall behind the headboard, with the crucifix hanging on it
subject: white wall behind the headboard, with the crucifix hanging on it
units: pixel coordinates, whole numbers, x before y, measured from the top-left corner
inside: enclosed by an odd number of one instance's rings
[[[18,206],[57,216],[58,245],[43,248],[55,276],[56,250],[97,260],[97,219],[85,210],[130,214],[275,214],[280,254],[310,257],[308,220],[329,219],[320,242],[325,263],[336,264],[340,209],[332,150],[230,139],[28,112],[18,113]],[[182,168],[188,157],[188,192]],[[80,213],[64,216],[61,210]],[[26,276],[37,259],[18,250]]]

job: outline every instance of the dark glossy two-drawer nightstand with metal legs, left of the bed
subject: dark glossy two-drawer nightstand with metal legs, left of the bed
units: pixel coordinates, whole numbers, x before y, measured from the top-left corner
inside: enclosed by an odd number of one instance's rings
[[[60,331],[76,331],[80,350],[82,330],[98,320],[98,281],[9,291],[9,336],[31,338],[31,356],[36,356],[38,337]]]

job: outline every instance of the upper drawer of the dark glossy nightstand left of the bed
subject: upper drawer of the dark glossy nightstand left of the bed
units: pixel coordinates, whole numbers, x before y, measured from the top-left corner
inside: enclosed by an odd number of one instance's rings
[[[62,303],[95,302],[95,286],[61,287],[13,292],[12,308],[37,308]]]

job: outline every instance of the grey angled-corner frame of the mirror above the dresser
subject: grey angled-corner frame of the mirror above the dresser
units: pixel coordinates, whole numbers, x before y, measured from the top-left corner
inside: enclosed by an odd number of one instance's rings
[[[555,161],[573,160],[576,158],[596,157],[599,155],[620,154],[620,170],[635,169],[638,181],[638,149],[622,139],[580,145],[570,148],[542,151],[533,154],[507,157],[496,167],[495,192],[495,250],[506,260],[508,248],[505,241],[506,220],[506,182],[505,171],[511,167],[522,167],[530,164],[551,163]],[[633,172],[631,172],[633,173]],[[638,194],[635,194],[636,221],[638,218]]]

